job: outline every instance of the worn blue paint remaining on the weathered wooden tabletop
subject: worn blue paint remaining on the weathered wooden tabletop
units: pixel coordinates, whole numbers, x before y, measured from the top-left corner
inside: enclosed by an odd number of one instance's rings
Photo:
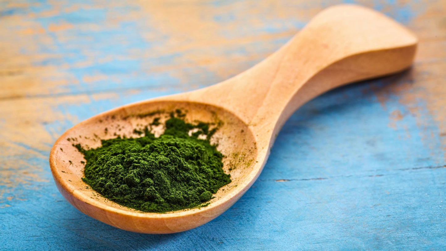
[[[237,3],[213,1],[206,4],[228,6]],[[83,1],[83,4],[91,3]],[[332,3],[321,4],[329,6]],[[372,5],[403,23],[411,22],[424,11],[417,2],[401,6],[396,1],[385,4],[373,1]],[[311,6],[302,4],[290,8]],[[29,12],[38,14],[51,8],[50,2],[41,1],[40,5],[35,4],[29,9],[6,8],[2,15],[29,18],[26,16]],[[68,68],[58,69],[78,81],[63,86],[65,91],[33,97],[50,100],[62,99],[64,95],[86,95],[88,98],[86,103],[62,102],[53,107],[53,112],[66,114],[67,118],[68,115],[75,117],[75,121],[62,119],[42,124],[54,136],[53,140],[75,122],[99,112],[222,80],[205,66],[178,64],[178,69],[150,71],[153,67],[176,66],[178,58],[190,51],[135,57],[139,52],[162,48],[169,40],[169,34],[150,26],[150,16],[142,21],[129,18],[116,27],[108,26],[110,13],[138,10],[138,6],[128,4],[114,9],[81,9],[53,17],[37,15],[33,19],[54,40],[50,45],[37,43],[38,52],[50,57],[33,62],[34,66],[68,64]],[[241,18],[241,14],[243,10],[234,10],[211,18],[224,27]],[[96,24],[101,29],[49,32],[50,25],[61,21],[74,25]],[[269,25],[252,29],[222,28],[221,34],[228,38],[243,38],[247,30],[251,35],[277,34],[289,31],[290,27],[301,28],[304,24],[299,17],[292,20],[277,18]],[[58,33],[67,39],[61,41]],[[148,42],[143,33],[156,34],[159,40]],[[33,36],[36,41],[37,38],[38,35]],[[273,38],[268,45],[253,41],[240,47],[209,45],[203,50],[215,49],[215,55],[225,57],[263,55],[278,48],[288,38]],[[29,48],[21,48],[21,52],[35,53]],[[108,56],[110,60],[103,60]],[[245,60],[243,66],[252,66],[256,62],[258,59]],[[179,73],[187,77],[180,78]],[[94,83],[83,80],[85,76],[97,74],[104,74],[109,79]],[[40,181],[29,178],[29,181],[17,182],[14,187],[2,185],[0,181],[0,191],[3,192],[0,199],[0,250],[445,249],[446,168],[444,146],[436,137],[438,126],[423,99],[411,104],[417,107],[421,116],[414,117],[408,105],[401,102],[401,95],[405,93],[387,94],[384,103],[376,96],[377,89],[403,84],[405,82],[400,78],[381,78],[339,88],[307,103],[285,123],[259,179],[234,206],[203,226],[172,235],[131,233],[80,213],[58,193],[52,181],[47,160],[50,145],[45,151],[17,143],[18,147],[36,152],[36,156],[8,156],[0,161],[24,160],[26,165],[8,170],[13,171],[12,180],[24,178],[21,172],[32,165],[38,167],[33,170]],[[410,91],[420,90],[402,92]],[[113,98],[93,98],[94,94],[107,93]],[[392,120],[393,111],[399,111],[401,119]],[[420,120],[425,123],[420,124]],[[0,118],[0,126],[5,123],[8,121]],[[394,128],[389,127],[391,123]],[[3,138],[0,134],[0,140]],[[6,199],[10,196],[24,200]]]

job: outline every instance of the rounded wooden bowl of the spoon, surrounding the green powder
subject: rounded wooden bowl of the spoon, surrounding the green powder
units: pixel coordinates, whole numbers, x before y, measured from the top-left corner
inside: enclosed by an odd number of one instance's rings
[[[211,143],[218,144],[217,149],[223,153],[223,169],[231,174],[232,182],[214,194],[209,206],[165,214],[143,213],[103,198],[82,181],[85,159],[73,145],[97,148],[101,146],[101,140],[117,136],[138,137],[139,130],[156,118],[160,125],[152,126],[151,132],[160,135],[165,120],[177,110],[184,112],[186,122],[210,123],[211,128],[218,126]],[[50,163],[59,191],[78,210],[124,230],[170,233],[210,221],[214,217],[206,212],[211,208],[221,214],[232,206],[241,196],[240,190],[250,186],[248,183],[255,181],[260,173],[259,168],[254,168],[256,156],[256,140],[251,130],[229,111],[196,102],[145,101],[104,112],[71,128],[54,144]]]

